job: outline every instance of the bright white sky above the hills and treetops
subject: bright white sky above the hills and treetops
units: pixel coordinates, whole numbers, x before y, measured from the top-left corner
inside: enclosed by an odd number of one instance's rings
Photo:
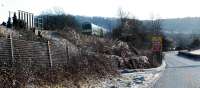
[[[35,15],[51,8],[84,16],[117,17],[119,8],[138,19],[200,17],[199,0],[0,0],[0,22],[8,11],[24,10]]]

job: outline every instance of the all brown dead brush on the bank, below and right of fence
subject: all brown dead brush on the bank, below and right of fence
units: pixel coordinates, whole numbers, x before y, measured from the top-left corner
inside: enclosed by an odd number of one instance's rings
[[[60,37],[69,40],[78,48],[77,55],[62,58],[66,63],[55,63],[53,67],[44,67],[41,63],[16,63],[12,67],[2,68],[0,87],[80,88],[86,86],[88,88],[95,87],[94,84],[98,85],[101,79],[118,76],[119,69],[151,67],[146,57],[150,55],[149,51],[139,52],[135,48],[130,49],[126,42],[86,36],[75,31],[58,33]],[[64,50],[65,48],[60,51]]]

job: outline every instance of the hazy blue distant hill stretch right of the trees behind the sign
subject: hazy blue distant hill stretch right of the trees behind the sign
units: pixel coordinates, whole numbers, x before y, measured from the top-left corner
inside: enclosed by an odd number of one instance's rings
[[[200,17],[163,19],[163,29],[167,32],[200,33]]]

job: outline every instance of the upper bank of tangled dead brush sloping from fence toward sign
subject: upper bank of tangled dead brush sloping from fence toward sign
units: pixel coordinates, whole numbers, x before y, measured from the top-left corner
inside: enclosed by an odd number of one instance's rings
[[[92,52],[97,55],[103,54],[104,56],[110,57],[109,59],[116,58],[115,61],[118,63],[119,68],[138,69],[152,67],[149,59],[151,58],[151,51],[149,50],[137,50],[135,47],[130,47],[126,42],[120,40],[87,36],[77,33],[74,30],[68,32],[59,31],[58,33],[63,38],[87,52]]]

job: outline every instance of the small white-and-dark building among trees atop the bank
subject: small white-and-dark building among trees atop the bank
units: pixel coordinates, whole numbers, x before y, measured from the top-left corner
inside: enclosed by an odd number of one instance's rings
[[[81,32],[87,35],[104,36],[107,33],[107,29],[90,22],[84,22]]]

